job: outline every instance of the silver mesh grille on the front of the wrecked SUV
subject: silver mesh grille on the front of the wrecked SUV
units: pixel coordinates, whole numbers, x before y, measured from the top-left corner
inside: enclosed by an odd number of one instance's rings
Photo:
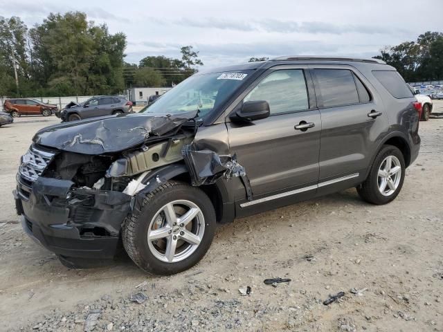
[[[53,152],[44,151],[35,147],[35,145],[31,145],[28,152],[21,156],[21,165],[19,167],[21,177],[31,183],[34,182],[42,175],[54,156]]]

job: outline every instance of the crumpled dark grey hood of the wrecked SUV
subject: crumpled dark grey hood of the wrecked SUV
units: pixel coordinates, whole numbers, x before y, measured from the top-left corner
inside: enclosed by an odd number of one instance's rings
[[[172,116],[121,114],[64,122],[37,131],[33,141],[78,154],[118,152],[140,145],[152,136],[163,136],[195,116],[194,111]]]

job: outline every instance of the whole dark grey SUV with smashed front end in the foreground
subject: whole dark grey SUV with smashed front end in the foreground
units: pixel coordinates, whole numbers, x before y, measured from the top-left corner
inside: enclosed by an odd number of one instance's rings
[[[395,199],[419,153],[420,107],[377,59],[197,73],[143,113],[38,131],[17,212],[66,266],[112,259],[121,239],[143,270],[179,273],[204,257],[217,223],[350,187],[372,204]]]

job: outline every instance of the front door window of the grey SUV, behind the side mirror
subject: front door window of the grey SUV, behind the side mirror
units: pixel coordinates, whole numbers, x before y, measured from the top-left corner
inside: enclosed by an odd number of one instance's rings
[[[309,109],[305,74],[302,69],[274,71],[244,98],[254,100],[269,102],[271,114]]]

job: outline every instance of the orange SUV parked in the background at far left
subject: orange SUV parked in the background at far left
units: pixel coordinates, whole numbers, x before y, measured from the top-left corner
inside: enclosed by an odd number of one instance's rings
[[[57,111],[57,105],[45,104],[35,99],[7,99],[3,104],[3,109],[14,118],[19,116],[51,116]]]

